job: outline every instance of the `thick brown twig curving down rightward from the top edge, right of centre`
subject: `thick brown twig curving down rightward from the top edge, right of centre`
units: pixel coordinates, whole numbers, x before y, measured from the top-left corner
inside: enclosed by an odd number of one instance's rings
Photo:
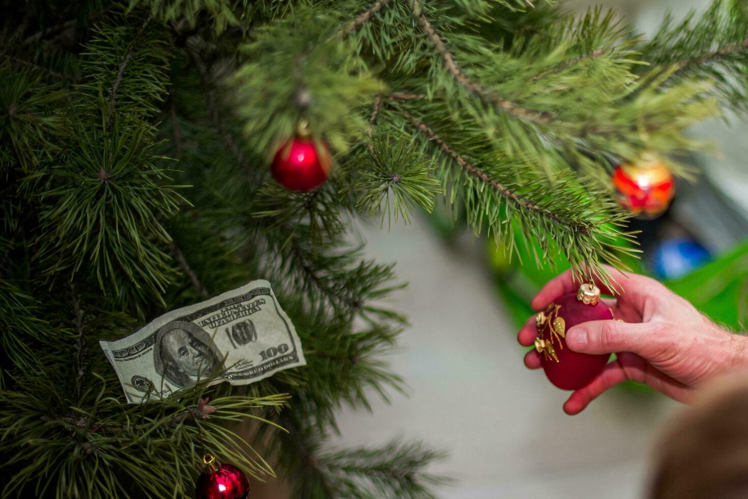
[[[497,108],[500,108],[503,111],[512,114],[513,116],[520,117],[524,120],[530,121],[531,123],[548,123],[551,121],[551,114],[548,114],[546,112],[530,111],[529,109],[521,108],[514,102],[495,95],[493,92],[483,88],[479,83],[473,82],[473,80],[469,79],[468,76],[466,76],[462,69],[459,67],[459,64],[457,64],[457,62],[455,61],[452,52],[450,52],[450,49],[447,48],[447,44],[444,43],[441,35],[438,34],[434,26],[431,24],[431,22],[429,22],[429,19],[426,19],[426,16],[423,14],[423,9],[421,8],[420,0],[410,1],[413,16],[416,18],[418,24],[423,29],[426,37],[428,37],[429,41],[434,45],[436,51],[439,52],[439,55],[441,55],[442,61],[444,61],[444,65],[447,67],[447,70],[452,76],[454,76],[454,78],[457,80],[457,82],[460,83],[460,85],[468,89],[468,91],[470,91],[471,93],[475,94],[477,97],[479,97],[480,100],[495,105]]]

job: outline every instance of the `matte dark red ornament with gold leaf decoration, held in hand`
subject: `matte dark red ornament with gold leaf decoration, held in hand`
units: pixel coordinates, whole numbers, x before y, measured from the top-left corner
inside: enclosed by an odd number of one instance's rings
[[[573,352],[566,346],[566,331],[590,320],[613,319],[610,309],[600,300],[600,290],[582,284],[579,293],[568,294],[548,305],[537,316],[538,338],[535,348],[545,376],[562,390],[578,390],[602,372],[610,354],[589,355]]]

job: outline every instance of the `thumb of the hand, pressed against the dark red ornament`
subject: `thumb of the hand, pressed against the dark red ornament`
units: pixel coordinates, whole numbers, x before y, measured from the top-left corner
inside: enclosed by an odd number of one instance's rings
[[[634,352],[654,360],[653,357],[672,353],[677,343],[663,324],[595,320],[582,322],[566,331],[566,344],[574,352],[593,355]]]

